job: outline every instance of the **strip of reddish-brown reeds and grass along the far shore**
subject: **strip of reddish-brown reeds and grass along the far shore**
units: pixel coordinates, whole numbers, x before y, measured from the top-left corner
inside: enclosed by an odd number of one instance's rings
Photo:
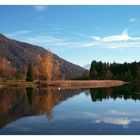
[[[55,87],[58,89],[115,87],[127,84],[120,80],[56,80],[56,81],[5,81],[0,87]]]

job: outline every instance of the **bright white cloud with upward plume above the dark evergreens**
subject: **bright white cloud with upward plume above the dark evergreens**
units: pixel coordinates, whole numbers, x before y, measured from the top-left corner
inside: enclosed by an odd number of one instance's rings
[[[107,48],[124,48],[140,46],[140,37],[131,37],[128,29],[124,29],[121,34],[110,35],[105,37],[91,36],[93,41],[85,43],[85,47],[104,46]]]

